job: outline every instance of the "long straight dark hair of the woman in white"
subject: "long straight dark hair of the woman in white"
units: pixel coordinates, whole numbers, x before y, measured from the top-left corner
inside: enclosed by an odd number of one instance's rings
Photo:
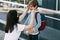
[[[14,25],[17,25],[18,23],[18,17],[17,17],[17,11],[16,10],[10,10],[7,14],[7,22],[5,26],[5,32],[8,33],[13,31]]]

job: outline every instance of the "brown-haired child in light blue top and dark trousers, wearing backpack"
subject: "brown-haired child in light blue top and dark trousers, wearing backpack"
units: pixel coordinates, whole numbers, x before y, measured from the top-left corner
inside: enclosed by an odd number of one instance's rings
[[[41,26],[41,16],[38,13],[39,11],[37,9],[38,8],[38,2],[37,1],[30,1],[30,3],[28,4],[28,7],[30,9],[30,13],[31,13],[31,10],[33,8],[35,10],[35,14],[37,13],[37,21],[34,18],[34,28],[28,31],[28,33],[29,33],[29,39],[30,40],[38,40],[38,34],[39,34],[38,28]],[[29,24],[30,21],[31,21],[31,15],[28,16],[25,24]]]

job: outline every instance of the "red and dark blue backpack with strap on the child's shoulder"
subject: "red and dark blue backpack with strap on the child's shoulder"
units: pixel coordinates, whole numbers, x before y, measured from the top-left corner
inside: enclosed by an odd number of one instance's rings
[[[35,20],[36,20],[36,23],[38,24],[38,21],[37,21],[37,14],[39,12],[36,12],[35,14]],[[45,17],[44,14],[40,14],[41,15],[41,26],[38,28],[39,31],[42,31],[45,29],[46,25],[47,25],[47,18]]]

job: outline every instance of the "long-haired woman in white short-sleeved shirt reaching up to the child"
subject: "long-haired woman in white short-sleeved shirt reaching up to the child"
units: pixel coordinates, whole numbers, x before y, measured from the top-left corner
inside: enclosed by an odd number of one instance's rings
[[[33,28],[34,24],[34,9],[31,13],[31,22],[29,25],[19,24],[20,21],[25,17],[26,11],[18,18],[16,10],[10,10],[7,14],[7,22],[5,26],[5,37],[4,40],[18,40],[22,31],[28,31]]]

